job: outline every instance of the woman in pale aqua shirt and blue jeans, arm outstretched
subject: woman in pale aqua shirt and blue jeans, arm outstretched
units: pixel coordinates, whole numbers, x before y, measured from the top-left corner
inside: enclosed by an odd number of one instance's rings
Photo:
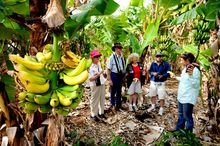
[[[181,63],[184,69],[180,77],[176,77],[174,74],[171,75],[172,78],[176,78],[179,81],[176,130],[185,128],[188,131],[193,131],[193,106],[196,104],[200,90],[200,69],[194,60],[195,57],[192,53],[182,54]]]

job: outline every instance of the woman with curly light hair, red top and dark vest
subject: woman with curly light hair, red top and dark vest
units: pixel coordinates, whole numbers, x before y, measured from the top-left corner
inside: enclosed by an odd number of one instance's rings
[[[144,65],[138,62],[137,53],[128,56],[129,64],[126,68],[127,87],[129,95],[129,111],[137,111],[137,103],[143,104],[142,85],[145,82]],[[139,99],[139,100],[138,100]]]

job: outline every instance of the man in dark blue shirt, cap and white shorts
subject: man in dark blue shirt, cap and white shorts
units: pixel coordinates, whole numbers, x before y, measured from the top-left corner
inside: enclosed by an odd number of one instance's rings
[[[165,81],[170,76],[168,71],[170,71],[170,65],[168,62],[162,60],[162,53],[156,54],[156,61],[152,62],[149,74],[150,74],[150,90],[149,95],[151,97],[152,105],[147,110],[151,112],[155,110],[155,105],[158,99],[160,100],[160,110],[159,115],[163,115],[164,113],[164,103],[165,103],[165,96],[166,96],[166,88],[165,88]]]

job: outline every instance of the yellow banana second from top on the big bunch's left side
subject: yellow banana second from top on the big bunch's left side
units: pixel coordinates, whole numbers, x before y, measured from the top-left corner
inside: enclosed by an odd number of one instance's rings
[[[34,74],[30,74],[29,72],[25,72],[25,71],[19,71],[17,73],[17,76],[22,83],[27,82],[27,83],[35,83],[42,85],[45,84],[47,81],[46,78],[36,76]]]

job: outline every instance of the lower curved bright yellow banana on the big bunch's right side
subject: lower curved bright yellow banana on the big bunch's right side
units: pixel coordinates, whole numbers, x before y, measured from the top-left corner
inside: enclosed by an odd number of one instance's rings
[[[74,77],[70,77],[67,75],[63,75],[63,81],[67,84],[67,85],[77,85],[77,84],[81,84],[83,82],[85,82],[87,80],[89,76],[89,73],[87,70],[83,71],[81,74],[74,76]]]

